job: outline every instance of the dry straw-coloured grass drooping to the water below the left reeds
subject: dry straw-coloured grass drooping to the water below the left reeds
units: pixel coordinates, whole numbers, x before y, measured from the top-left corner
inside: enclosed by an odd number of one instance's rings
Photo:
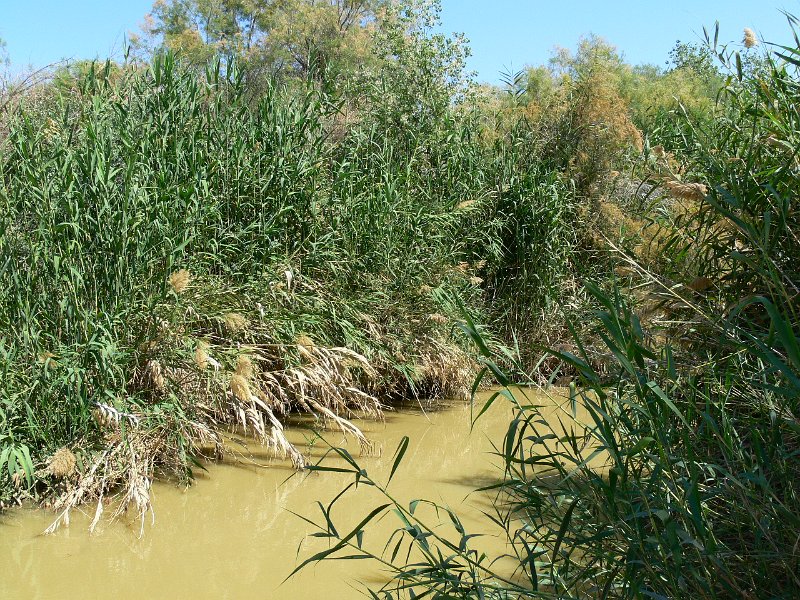
[[[472,268],[459,265],[459,273]],[[295,278],[293,288],[302,285]],[[410,371],[416,385],[409,390],[406,374],[396,368],[396,357],[376,353],[371,360],[350,348],[326,346],[307,333],[296,334],[291,343],[279,343],[258,314],[225,311],[218,305],[201,313],[196,305],[204,300],[206,287],[198,286],[198,293],[180,303],[174,297],[167,300],[147,317],[151,341],[137,346],[141,362],[127,384],[137,401],[118,404],[135,408],[95,403],[93,416],[103,436],[95,446],[102,450],[82,455],[80,469],[54,484],[58,515],[48,532],[67,524],[71,511],[89,502],[97,503],[92,528],[109,504],[115,507],[112,519],[132,509],[144,527],[153,508],[150,490],[156,473],[180,476],[187,455],[223,456],[223,439],[232,431],[252,436],[302,469],[305,458],[282,423],[291,410],[313,415],[320,426],[356,438],[362,451],[371,452],[370,440],[354,419],[382,418],[385,407],[379,398],[409,391],[463,398],[468,392],[475,368],[462,349],[445,341],[449,334],[438,326],[450,322],[444,315],[434,317],[435,326],[426,324],[425,315],[415,322],[439,337],[421,335],[414,355],[402,357],[415,365]],[[229,303],[230,297],[224,296],[224,301]],[[396,336],[380,318],[363,314],[360,322],[371,344],[395,345]],[[149,407],[161,401],[179,410],[150,412]]]

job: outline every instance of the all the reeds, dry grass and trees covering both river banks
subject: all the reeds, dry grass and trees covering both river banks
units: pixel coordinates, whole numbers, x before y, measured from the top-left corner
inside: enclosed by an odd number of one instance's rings
[[[290,411],[367,448],[353,415],[491,381],[511,569],[341,449],[306,564],[378,560],[385,598],[796,595],[800,44],[587,38],[481,88],[437,15],[159,1],[124,63],[4,88],[0,501],[144,516],[231,428],[325,471]],[[512,385],[566,380],[558,423]]]

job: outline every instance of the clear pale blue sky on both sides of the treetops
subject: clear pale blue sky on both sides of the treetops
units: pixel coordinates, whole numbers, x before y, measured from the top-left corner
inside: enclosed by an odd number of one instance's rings
[[[152,0],[0,0],[0,37],[12,64],[44,66],[62,58],[118,56]],[[574,47],[594,33],[629,62],[663,64],[675,41],[697,41],[721,23],[721,38],[739,41],[751,27],[787,40],[780,13],[800,16],[800,0],[443,0],[443,28],[471,41],[470,67],[497,82],[504,69],[547,61],[554,46]]]

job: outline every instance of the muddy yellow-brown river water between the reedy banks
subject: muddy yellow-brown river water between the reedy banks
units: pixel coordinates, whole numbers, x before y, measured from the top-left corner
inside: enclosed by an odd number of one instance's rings
[[[564,402],[563,396],[525,393],[553,405],[554,412]],[[504,541],[481,514],[491,510],[491,499],[471,492],[496,481],[499,459],[492,444],[502,443],[511,414],[510,405],[498,400],[472,431],[464,404],[436,412],[403,409],[388,413],[385,422],[359,422],[381,450],[359,462],[385,480],[395,448],[407,435],[408,451],[390,491],[404,502],[427,498],[448,505],[468,533],[486,534],[476,540],[478,547],[501,554]],[[295,427],[290,433],[308,455],[323,452],[324,444],[312,441],[310,430]],[[334,445],[344,443],[340,434],[324,435]],[[89,534],[92,506],[50,536],[42,532],[52,513],[18,509],[0,515],[0,598],[360,598],[365,585],[386,581],[371,562],[331,561],[284,582],[298,556],[302,560],[327,547],[306,538],[311,526],[292,513],[319,522],[316,502],[329,502],[350,479],[330,473],[290,477],[284,461],[257,445],[240,450],[238,461],[209,465],[189,489],[154,485],[155,523],[148,517],[141,537],[133,518],[105,520]],[[379,500],[374,490],[359,490],[334,511],[337,526],[357,523]],[[382,548],[398,525],[389,514],[367,529],[366,543]]]

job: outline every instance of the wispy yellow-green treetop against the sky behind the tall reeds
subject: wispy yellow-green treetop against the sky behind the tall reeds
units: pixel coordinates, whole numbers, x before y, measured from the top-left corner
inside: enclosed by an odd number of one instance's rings
[[[253,73],[322,76],[368,56],[386,0],[157,0],[145,35],[196,64],[238,60]]]

